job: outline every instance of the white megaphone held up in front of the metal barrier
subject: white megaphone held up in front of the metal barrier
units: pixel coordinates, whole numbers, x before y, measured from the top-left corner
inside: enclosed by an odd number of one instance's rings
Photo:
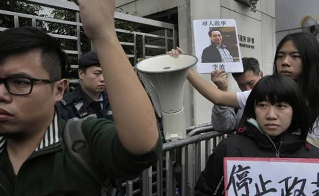
[[[188,68],[197,61],[193,55],[180,54],[173,58],[163,54],[145,59],[135,66],[151,94],[155,111],[162,118],[166,141],[186,138],[183,87]]]

